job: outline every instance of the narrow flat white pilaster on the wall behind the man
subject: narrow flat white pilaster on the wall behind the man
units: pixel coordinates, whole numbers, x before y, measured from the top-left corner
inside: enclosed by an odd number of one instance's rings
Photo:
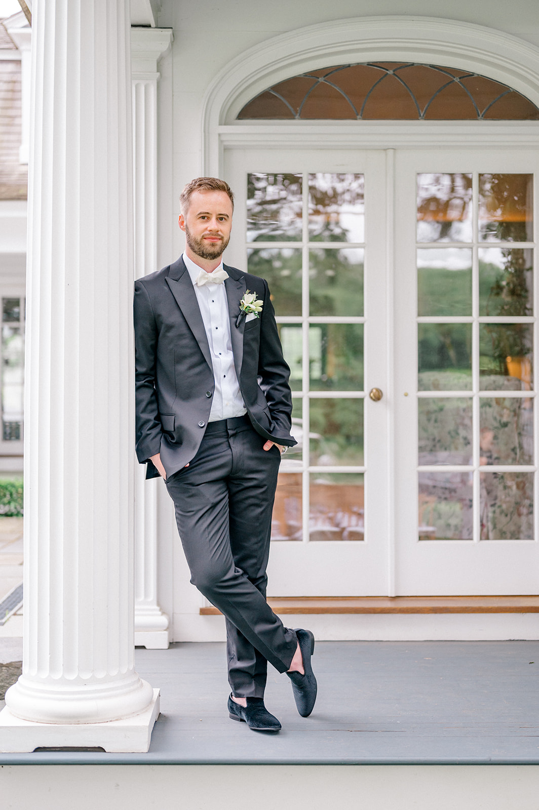
[[[157,268],[157,65],[172,31],[131,29],[133,84],[133,185],[135,190],[135,278]],[[135,459],[135,644],[148,650],[169,646],[169,617],[157,594],[157,485],[144,479]]]

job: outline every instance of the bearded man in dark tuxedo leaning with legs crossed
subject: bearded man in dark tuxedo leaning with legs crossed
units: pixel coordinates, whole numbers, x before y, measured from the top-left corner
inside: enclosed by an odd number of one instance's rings
[[[280,454],[296,444],[289,367],[266,281],[222,262],[229,185],[199,177],[181,207],[184,254],[135,283],[137,455],[165,479],[191,582],[225,615],[230,718],[279,731],[267,661],[303,717],[316,698],[312,633],[285,628],[265,599]]]

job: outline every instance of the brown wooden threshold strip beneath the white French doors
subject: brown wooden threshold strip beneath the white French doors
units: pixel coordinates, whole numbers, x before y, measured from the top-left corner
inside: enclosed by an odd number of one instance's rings
[[[273,596],[272,610],[286,613],[539,613],[539,596]],[[219,616],[200,608],[201,616]]]

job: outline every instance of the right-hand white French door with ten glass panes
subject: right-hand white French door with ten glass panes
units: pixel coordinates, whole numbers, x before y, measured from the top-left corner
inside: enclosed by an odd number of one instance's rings
[[[537,593],[538,164],[396,153],[398,594]]]

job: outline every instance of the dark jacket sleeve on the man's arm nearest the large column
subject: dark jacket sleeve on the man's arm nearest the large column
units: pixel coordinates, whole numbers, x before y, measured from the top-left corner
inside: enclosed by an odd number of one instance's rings
[[[135,281],[135,437],[141,464],[160,452],[163,433],[156,397],[158,331],[152,301],[143,283]]]

